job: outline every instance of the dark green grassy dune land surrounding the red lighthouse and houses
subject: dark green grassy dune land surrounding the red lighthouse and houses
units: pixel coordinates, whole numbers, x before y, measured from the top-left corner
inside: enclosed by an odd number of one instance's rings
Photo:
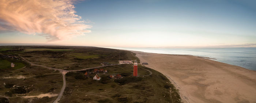
[[[163,74],[132,64],[130,51],[82,46],[0,46],[0,101],[10,103],[179,103],[178,90]],[[120,55],[120,56],[119,56]],[[15,67],[11,67],[14,63]],[[93,73],[94,68],[108,73]],[[89,69],[88,69],[89,68]],[[88,70],[87,70],[88,69]],[[80,70],[80,71],[76,71]],[[83,70],[83,71],[82,71]],[[85,72],[89,72],[86,76]],[[95,74],[100,81],[93,80]],[[109,79],[120,74],[121,79]],[[7,102],[7,103],[8,103]]]

